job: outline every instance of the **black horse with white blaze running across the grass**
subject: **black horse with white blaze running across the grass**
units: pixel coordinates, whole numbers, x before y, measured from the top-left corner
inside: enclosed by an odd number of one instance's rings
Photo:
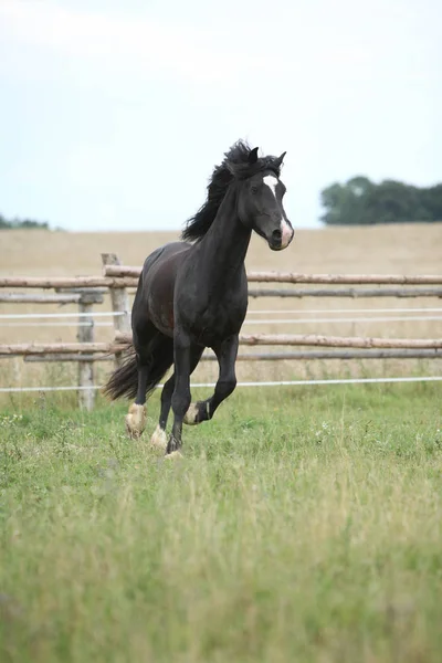
[[[134,348],[104,391],[112,399],[136,397],[126,428],[139,436],[146,399],[175,365],[151,438],[167,454],[180,449],[183,422],[211,419],[236,386],[239,333],[248,309],[244,260],[252,231],[273,251],[286,249],[293,239],[280,180],[284,156],[259,157],[257,148],[238,141],[214,168],[207,201],[187,222],[185,241],[157,249],[143,266],[131,309]],[[207,347],[217,355],[219,379],[211,398],[191,403],[190,375]],[[173,427],[167,441],[170,406]]]

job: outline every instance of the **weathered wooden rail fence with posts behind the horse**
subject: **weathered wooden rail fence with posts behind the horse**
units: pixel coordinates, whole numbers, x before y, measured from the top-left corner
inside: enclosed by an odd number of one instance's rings
[[[103,275],[75,277],[0,277],[1,303],[77,304],[77,343],[1,344],[0,358],[23,356],[29,361],[78,362],[80,404],[91,409],[94,404],[94,362],[122,360],[130,346],[129,288],[138,284],[140,267],[122,265],[115,254],[102,254]],[[278,272],[251,272],[250,283],[297,284],[295,288],[250,288],[252,297],[436,297],[442,298],[442,275],[385,275],[385,274],[297,274]],[[322,285],[323,287],[311,287]],[[352,287],[330,287],[351,285]],[[367,287],[373,286],[377,287]],[[386,287],[387,286],[387,287]],[[430,287],[429,287],[430,286]],[[53,294],[4,293],[4,288],[53,290]],[[93,306],[103,304],[109,293],[115,336],[107,343],[96,343],[94,337]],[[85,324],[86,323],[86,324]],[[299,346],[291,352],[241,354],[239,360],[281,359],[355,359],[355,358],[440,358],[442,338],[380,338],[341,337],[312,334],[241,334],[241,346]],[[326,350],[307,348],[327,348]],[[345,349],[343,349],[345,348]],[[213,359],[203,356],[204,360]]]

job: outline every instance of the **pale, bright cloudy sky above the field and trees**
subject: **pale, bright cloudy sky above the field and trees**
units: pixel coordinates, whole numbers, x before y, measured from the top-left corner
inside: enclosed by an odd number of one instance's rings
[[[243,138],[318,228],[334,181],[442,180],[442,2],[0,0],[0,99],[7,218],[178,230]]]

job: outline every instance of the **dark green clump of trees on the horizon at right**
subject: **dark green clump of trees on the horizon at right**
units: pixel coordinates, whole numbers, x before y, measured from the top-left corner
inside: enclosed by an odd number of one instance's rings
[[[442,221],[442,183],[414,187],[396,180],[372,182],[358,176],[324,189],[320,201],[327,225]]]

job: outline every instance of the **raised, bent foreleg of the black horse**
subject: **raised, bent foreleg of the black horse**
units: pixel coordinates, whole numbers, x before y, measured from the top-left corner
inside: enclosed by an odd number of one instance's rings
[[[191,403],[185,415],[185,423],[196,425],[212,419],[217,408],[228,398],[236,387],[235,361],[238,355],[238,335],[229,336],[218,347],[214,347],[220,373],[214,393],[203,401]]]

